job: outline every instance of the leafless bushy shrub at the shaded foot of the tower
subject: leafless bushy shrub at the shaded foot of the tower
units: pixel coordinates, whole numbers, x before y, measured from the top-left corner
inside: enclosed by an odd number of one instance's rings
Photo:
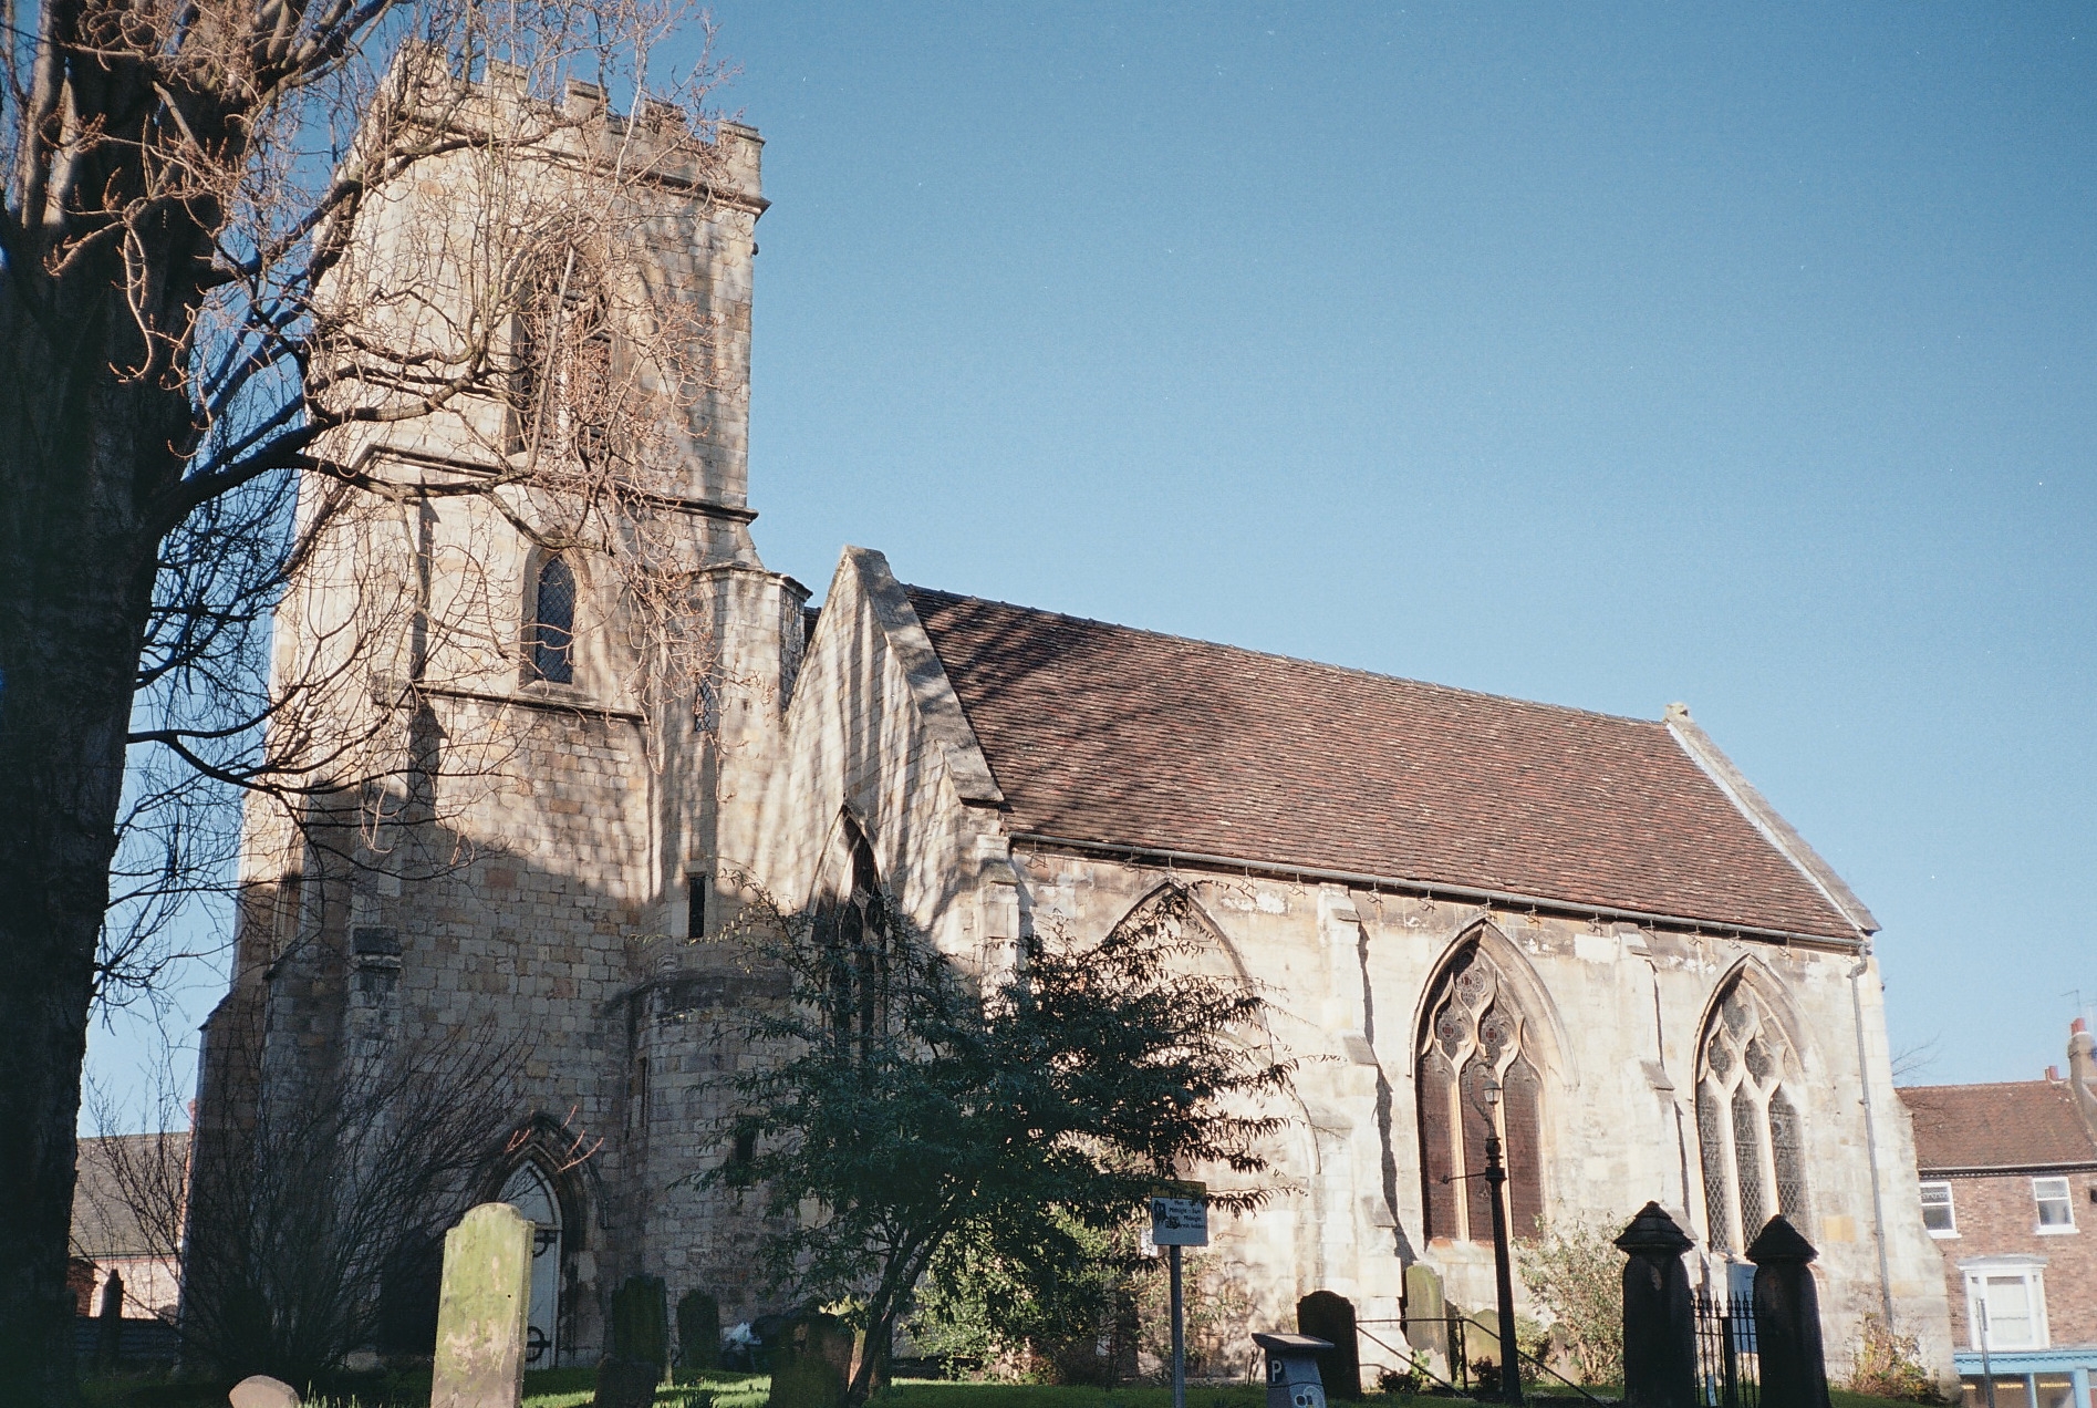
[[[180,1314],[168,1314],[185,1360],[306,1385],[380,1339],[380,1293],[401,1290],[388,1282],[434,1270],[503,1148],[520,1047],[421,1041],[356,1066],[325,1102],[273,1070],[262,1041],[229,1049],[237,1060],[212,1079],[247,1100],[212,1108],[241,1110],[241,1125],[109,1139],[107,1183],[143,1251],[191,1251]],[[164,1114],[178,1129],[178,1110]]]

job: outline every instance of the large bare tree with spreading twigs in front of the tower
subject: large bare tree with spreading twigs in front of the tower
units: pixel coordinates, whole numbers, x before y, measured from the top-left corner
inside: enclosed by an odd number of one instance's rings
[[[86,1022],[151,990],[231,808],[323,871],[455,860],[451,783],[510,743],[445,701],[577,646],[495,609],[497,527],[593,564],[631,707],[707,669],[677,502],[740,329],[648,258],[721,172],[711,61],[650,67],[684,21],[6,4],[0,1358],[48,1402]]]

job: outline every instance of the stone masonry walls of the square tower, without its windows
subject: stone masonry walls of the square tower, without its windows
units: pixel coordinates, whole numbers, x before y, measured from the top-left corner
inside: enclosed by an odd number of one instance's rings
[[[411,1043],[520,1043],[510,1106],[528,1144],[491,1150],[489,1186],[468,1198],[493,1196],[524,1152],[554,1175],[562,1362],[596,1362],[602,1297],[627,1274],[665,1274],[673,1295],[749,1276],[742,1225],[671,1188],[700,1156],[705,1112],[690,1083],[742,1060],[717,1020],[742,995],[694,986],[665,957],[682,959],[669,940],[684,932],[684,877],[711,871],[723,797],[749,810],[763,791],[782,663],[801,646],[805,592],[755,564],[747,527],[759,147],[753,130],[723,124],[719,189],[665,187],[644,241],[656,277],[715,327],[711,384],[675,441],[690,499],[665,510],[661,531],[700,575],[734,567],[755,596],[770,594],[770,653],[740,638],[749,602],[709,623],[723,655],[753,661],[721,678],[763,695],[770,722],[723,751],[705,739],[702,701],[635,697],[633,653],[648,642],[623,615],[617,573],[593,560],[575,562],[575,682],[528,678],[520,657],[543,550],[510,520],[541,512],[528,495],[501,512],[476,495],[348,506],[285,594],[273,659],[279,686],[331,680],[300,726],[321,751],[354,743],[331,774],[375,781],[315,802],[304,820],[323,825],[325,846],[268,806],[250,808],[235,984],[208,1030],[208,1058],[224,1070],[239,1068],[229,1043],[262,1041],[279,1093],[325,1089],[348,1062],[394,1060]],[[396,239],[388,220],[440,222],[447,201],[474,189],[424,180],[388,193],[375,266]],[[468,407],[333,451],[371,451],[398,481],[455,489],[503,441],[499,415],[480,411],[495,413]],[[319,512],[321,487],[306,485],[302,520]],[[438,762],[434,785],[417,781],[417,758]],[[210,1079],[201,1093],[199,1129],[237,1139],[256,1091]]]

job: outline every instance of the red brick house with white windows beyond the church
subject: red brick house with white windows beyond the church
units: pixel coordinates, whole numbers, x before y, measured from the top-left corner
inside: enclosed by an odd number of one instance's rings
[[[1923,1225],[1944,1255],[1969,1402],[2091,1408],[2097,1370],[2097,1062],[2078,1018],[2068,1079],[1917,1085]]]

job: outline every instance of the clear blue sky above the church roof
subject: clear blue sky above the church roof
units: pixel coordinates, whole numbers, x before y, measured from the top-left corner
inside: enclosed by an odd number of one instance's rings
[[[772,567],[1688,701],[1879,915],[1915,1079],[2061,1060],[2097,8],[715,13]]]

